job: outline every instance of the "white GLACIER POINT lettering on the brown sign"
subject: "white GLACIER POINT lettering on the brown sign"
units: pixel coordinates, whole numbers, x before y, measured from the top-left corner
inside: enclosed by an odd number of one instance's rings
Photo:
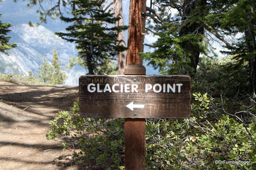
[[[145,92],[149,92],[153,89],[153,92],[180,92],[181,86],[183,84],[145,84]],[[103,89],[100,89],[100,84],[90,83],[87,86],[88,92],[138,92],[138,85],[137,84],[113,84],[110,86],[109,84],[105,84]]]

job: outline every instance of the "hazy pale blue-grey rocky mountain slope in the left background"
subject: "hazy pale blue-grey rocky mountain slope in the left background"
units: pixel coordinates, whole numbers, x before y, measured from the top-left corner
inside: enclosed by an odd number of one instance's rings
[[[56,36],[44,26],[31,27],[28,24],[18,24],[11,27],[12,42],[18,46],[10,50],[9,56],[0,53],[0,72],[9,75],[28,75],[29,71],[37,74],[39,66],[43,64],[43,57],[50,62],[53,56],[53,48],[56,48],[62,67],[68,65],[68,59],[77,56],[75,45],[68,43]],[[66,69],[67,85],[77,85],[80,75],[86,73],[86,69],[76,66],[74,69]]]

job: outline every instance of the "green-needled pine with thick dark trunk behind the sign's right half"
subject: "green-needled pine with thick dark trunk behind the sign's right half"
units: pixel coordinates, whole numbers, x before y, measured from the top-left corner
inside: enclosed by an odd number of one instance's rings
[[[200,53],[206,53],[204,16],[206,0],[154,0],[159,14],[151,8],[145,14],[154,21],[153,33],[159,36],[152,53],[141,53],[162,74],[187,74],[193,77]],[[169,9],[169,10],[168,10]],[[177,9],[176,16],[170,14]],[[151,22],[151,20],[149,20]],[[150,23],[149,22],[149,23]]]

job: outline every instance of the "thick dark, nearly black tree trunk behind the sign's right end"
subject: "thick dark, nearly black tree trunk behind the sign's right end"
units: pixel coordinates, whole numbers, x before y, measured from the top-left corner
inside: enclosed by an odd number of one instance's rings
[[[190,16],[194,9],[196,9],[198,6],[206,6],[206,0],[185,0],[183,4],[183,12],[182,12],[182,21],[185,21],[188,19],[188,16]],[[200,15],[203,17],[203,12],[200,12]],[[186,21],[185,21],[186,22]],[[202,26],[203,23],[200,22],[194,22],[192,24],[186,23],[185,26],[182,27],[182,29],[179,32],[179,36],[184,36],[193,33],[196,31],[197,35],[203,35],[204,34],[204,26]],[[189,66],[193,68],[194,70],[191,72],[188,69],[186,69],[185,74],[190,75],[191,78],[197,71],[197,64],[199,61],[199,55],[200,51],[190,42],[187,42],[184,44],[185,51],[189,51],[191,55]]]

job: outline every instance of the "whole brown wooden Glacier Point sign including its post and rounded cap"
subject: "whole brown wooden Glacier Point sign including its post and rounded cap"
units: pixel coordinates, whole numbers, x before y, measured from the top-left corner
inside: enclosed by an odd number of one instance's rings
[[[188,75],[144,75],[129,65],[129,75],[79,78],[79,109],[84,118],[125,118],[125,170],[145,170],[145,118],[189,118]],[[136,75],[134,75],[136,74]]]

